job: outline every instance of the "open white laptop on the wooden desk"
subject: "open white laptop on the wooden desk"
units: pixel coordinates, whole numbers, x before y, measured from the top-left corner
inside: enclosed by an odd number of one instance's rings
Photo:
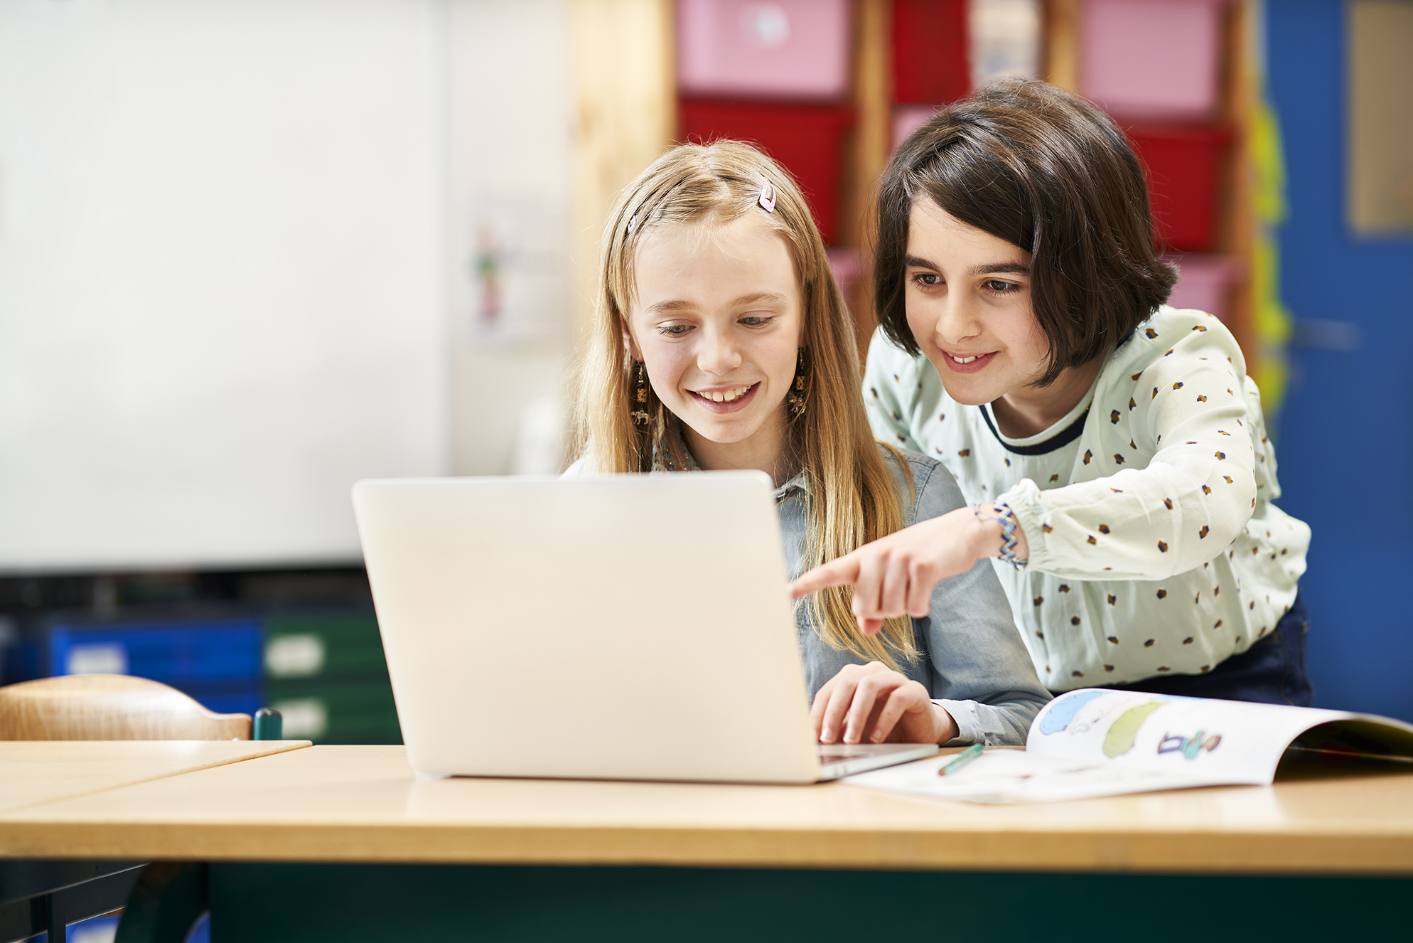
[[[363,481],[413,768],[808,783],[937,752],[820,745],[770,478]]]

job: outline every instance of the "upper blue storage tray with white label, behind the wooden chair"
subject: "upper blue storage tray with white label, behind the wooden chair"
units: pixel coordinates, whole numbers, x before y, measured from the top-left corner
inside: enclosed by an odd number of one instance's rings
[[[257,619],[54,625],[49,673],[133,674],[177,689],[239,680],[259,687],[261,636]]]

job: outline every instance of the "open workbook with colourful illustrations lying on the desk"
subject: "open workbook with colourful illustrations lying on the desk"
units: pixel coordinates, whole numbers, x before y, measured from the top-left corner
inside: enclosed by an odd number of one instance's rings
[[[945,776],[937,756],[844,782],[968,802],[1054,802],[1277,779],[1413,773],[1413,725],[1373,714],[1080,689],[1036,715],[1026,749]]]

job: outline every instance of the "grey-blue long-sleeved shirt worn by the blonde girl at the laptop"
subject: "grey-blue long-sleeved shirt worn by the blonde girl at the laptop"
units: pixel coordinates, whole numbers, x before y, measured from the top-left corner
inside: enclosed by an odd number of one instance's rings
[[[890,451],[880,451],[900,493],[909,495],[901,467]],[[914,499],[907,503],[907,525],[965,506],[957,479],[941,464],[917,452],[903,454],[916,489]],[[804,475],[776,489],[790,578],[804,571],[808,500]],[[832,649],[820,639],[804,601],[796,611],[796,628],[811,700],[845,664],[863,663],[856,655]],[[903,673],[920,681],[933,703],[957,721],[958,737],[952,742],[1026,742],[1030,721],[1050,700],[1050,691],[1036,676],[989,560],[937,584],[933,611],[913,619],[913,633],[923,659],[904,664]]]

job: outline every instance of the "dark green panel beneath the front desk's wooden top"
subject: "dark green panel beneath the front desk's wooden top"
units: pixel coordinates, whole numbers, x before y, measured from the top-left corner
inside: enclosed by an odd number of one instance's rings
[[[209,881],[220,943],[1328,943],[1403,939],[1413,899],[1402,878],[945,871],[213,862]]]

